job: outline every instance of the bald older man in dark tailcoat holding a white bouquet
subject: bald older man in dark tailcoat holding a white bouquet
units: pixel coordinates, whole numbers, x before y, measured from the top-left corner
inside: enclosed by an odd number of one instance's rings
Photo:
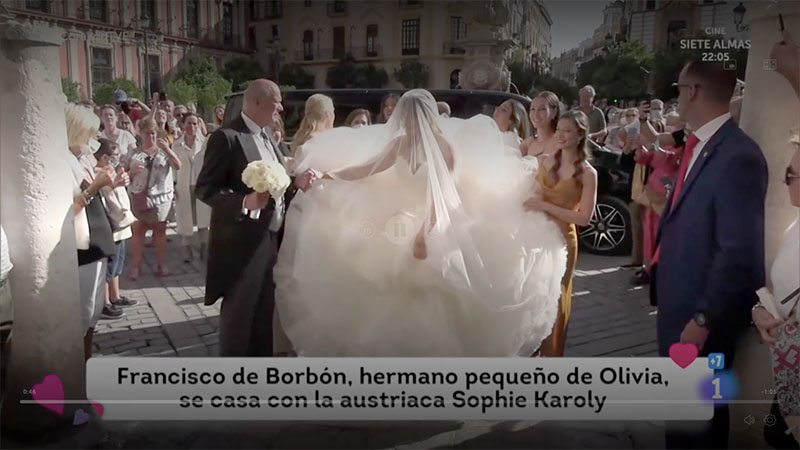
[[[211,206],[205,304],[223,297],[221,356],[272,356],[272,268],[286,199],[254,192],[242,182],[242,172],[260,159],[285,166],[272,133],[282,110],[278,85],[252,81],[241,115],[209,138],[197,179],[197,198]],[[310,183],[311,176],[297,182]]]

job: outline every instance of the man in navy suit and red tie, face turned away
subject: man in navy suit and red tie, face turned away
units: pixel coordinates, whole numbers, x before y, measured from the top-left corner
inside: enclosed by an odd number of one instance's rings
[[[692,61],[677,83],[686,141],[667,201],[655,256],[651,300],[658,305],[659,354],[692,343],[719,352],[730,368],[764,285],[767,165],[761,149],[728,112],[735,72]],[[727,448],[728,408],[710,422],[667,422],[667,448]]]

